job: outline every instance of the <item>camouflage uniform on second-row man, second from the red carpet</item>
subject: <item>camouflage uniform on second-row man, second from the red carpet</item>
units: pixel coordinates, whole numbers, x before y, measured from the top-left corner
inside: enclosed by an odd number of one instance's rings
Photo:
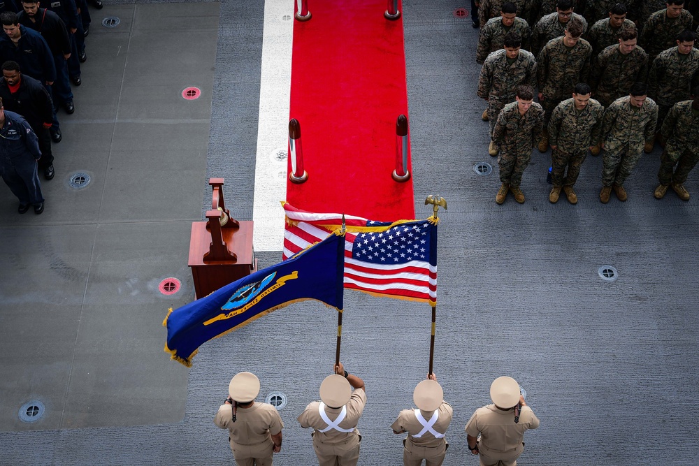
[[[552,39],[541,51],[536,74],[539,92],[544,95],[544,124],[548,124],[556,105],[570,97],[575,85],[586,82],[591,55],[592,47],[588,41],[580,39],[575,47],[568,49],[563,45],[563,37]]]

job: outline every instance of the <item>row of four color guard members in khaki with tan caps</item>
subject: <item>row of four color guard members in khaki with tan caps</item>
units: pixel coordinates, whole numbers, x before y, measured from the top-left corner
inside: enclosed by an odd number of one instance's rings
[[[282,449],[284,423],[277,409],[255,401],[259,379],[251,372],[236,374],[229,384],[229,397],[214,423],[229,430],[233,458],[240,466],[271,466],[273,454]],[[296,418],[302,428],[312,428],[313,449],[319,466],[355,466],[359,461],[361,435],[357,425],[366,405],[364,381],[349,374],[342,363],[326,377],[320,400],[310,402]],[[466,423],[466,443],[482,466],[516,466],[524,451],[524,432],[539,426],[539,419],[526,405],[517,381],[498,377],[490,387],[491,405],[476,409]],[[403,465],[441,466],[447,454],[445,434],[452,421],[452,407],[445,402],[435,374],[415,387],[415,408],[403,409],[391,425],[403,439]]]

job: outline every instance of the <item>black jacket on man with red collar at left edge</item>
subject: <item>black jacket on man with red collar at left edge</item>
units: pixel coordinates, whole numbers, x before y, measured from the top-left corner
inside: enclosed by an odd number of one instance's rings
[[[51,98],[46,88],[31,76],[22,75],[20,88],[14,94],[5,78],[0,78],[0,97],[3,107],[27,119],[35,133],[41,130],[43,123],[50,123],[53,119]]]

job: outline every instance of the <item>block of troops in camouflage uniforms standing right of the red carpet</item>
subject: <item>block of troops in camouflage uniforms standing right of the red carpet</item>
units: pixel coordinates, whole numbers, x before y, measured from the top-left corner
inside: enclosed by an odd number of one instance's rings
[[[603,154],[600,201],[612,191],[626,201],[624,182],[656,143],[663,153],[654,196],[672,188],[689,201],[684,182],[699,161],[699,1],[477,6],[477,95],[488,105],[488,152],[498,156],[496,203],[508,193],[524,203],[520,182],[535,146],[552,150],[552,203],[561,191],[577,203],[588,153]]]

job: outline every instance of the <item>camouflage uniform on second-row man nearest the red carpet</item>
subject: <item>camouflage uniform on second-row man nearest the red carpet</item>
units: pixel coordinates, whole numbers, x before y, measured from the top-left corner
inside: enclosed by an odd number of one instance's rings
[[[507,64],[505,49],[488,55],[478,78],[477,94],[481,99],[488,99],[491,134],[500,110],[514,101],[515,88],[521,84],[536,86],[536,61],[531,52],[519,50],[519,56],[512,64]]]

